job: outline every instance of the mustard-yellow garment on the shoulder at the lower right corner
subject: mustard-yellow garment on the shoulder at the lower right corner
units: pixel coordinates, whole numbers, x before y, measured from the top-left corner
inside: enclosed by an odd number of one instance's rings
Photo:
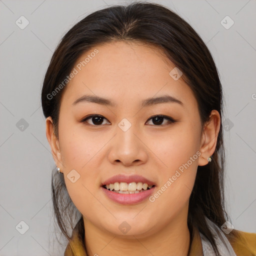
[[[233,232],[234,231],[234,232]],[[237,256],[256,255],[256,233],[244,232],[234,229],[226,235]]]

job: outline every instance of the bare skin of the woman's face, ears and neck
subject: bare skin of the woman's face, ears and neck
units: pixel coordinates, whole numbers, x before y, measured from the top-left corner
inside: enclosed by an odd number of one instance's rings
[[[66,85],[59,112],[59,137],[46,119],[46,136],[55,163],[63,172],[68,193],[82,213],[88,255],[186,255],[189,248],[187,213],[198,165],[208,164],[215,150],[220,116],[212,110],[201,126],[196,99],[182,79],[169,72],[174,64],[160,49],[139,42],[114,42],[94,47],[98,53]],[[92,52],[93,49],[90,51]],[[89,52],[78,60],[83,60]],[[121,56],[121,57],[120,57]],[[72,103],[83,94],[111,99],[116,106],[93,102]],[[148,97],[168,94],[183,102],[140,106]],[[81,120],[102,115],[101,126]],[[153,115],[163,114],[155,124]],[[131,127],[118,123],[126,118]],[[154,122],[153,122],[154,121]],[[93,126],[94,125],[94,126]],[[139,174],[158,190],[197,151],[188,168],[158,197],[131,205],[111,201],[99,189],[115,174]],[[75,169],[80,178],[67,178]],[[131,227],[123,234],[118,226]]]

